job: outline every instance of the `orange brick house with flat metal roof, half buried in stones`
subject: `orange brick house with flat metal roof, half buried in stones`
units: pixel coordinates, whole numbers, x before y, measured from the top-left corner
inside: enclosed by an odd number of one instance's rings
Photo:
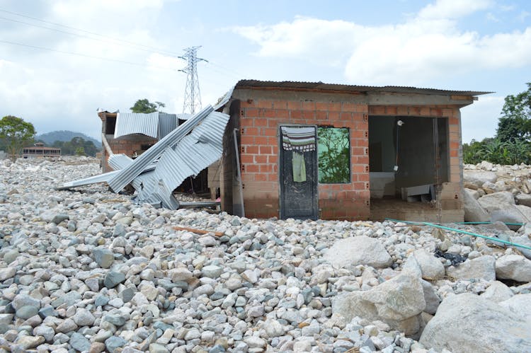
[[[239,81],[223,108],[222,209],[462,221],[459,110],[484,93]]]

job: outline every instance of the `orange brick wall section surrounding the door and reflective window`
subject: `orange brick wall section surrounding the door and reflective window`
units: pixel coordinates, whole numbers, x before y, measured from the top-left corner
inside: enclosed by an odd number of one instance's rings
[[[321,219],[370,216],[367,105],[253,99],[241,102],[241,178],[248,217],[279,216],[278,130],[282,124],[350,129],[351,183],[319,184]]]

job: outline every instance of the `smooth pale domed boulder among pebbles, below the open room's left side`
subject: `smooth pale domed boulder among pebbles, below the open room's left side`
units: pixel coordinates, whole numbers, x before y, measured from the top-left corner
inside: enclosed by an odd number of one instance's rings
[[[384,245],[377,239],[368,236],[354,236],[336,241],[326,251],[324,259],[334,267],[368,265],[375,268],[385,268],[393,262]]]

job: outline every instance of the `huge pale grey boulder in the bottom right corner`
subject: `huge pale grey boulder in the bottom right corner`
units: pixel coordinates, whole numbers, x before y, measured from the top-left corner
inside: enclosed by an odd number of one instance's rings
[[[448,296],[419,342],[437,351],[531,352],[531,321],[475,294]]]

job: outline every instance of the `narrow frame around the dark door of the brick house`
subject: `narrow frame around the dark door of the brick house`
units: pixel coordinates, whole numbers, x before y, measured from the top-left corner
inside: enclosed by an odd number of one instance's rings
[[[312,190],[314,192],[314,199],[312,200],[312,209],[314,209],[314,214],[309,216],[307,219],[319,219],[319,137],[317,135],[318,126],[315,124],[279,124],[277,127],[277,144],[278,144],[278,209],[280,219],[285,219],[285,208],[283,207],[284,200],[284,168],[282,166],[282,154],[284,153],[282,147],[282,132],[280,131],[281,127],[313,127],[315,129],[315,171],[314,171],[314,185]],[[295,217],[297,218],[297,217]]]

